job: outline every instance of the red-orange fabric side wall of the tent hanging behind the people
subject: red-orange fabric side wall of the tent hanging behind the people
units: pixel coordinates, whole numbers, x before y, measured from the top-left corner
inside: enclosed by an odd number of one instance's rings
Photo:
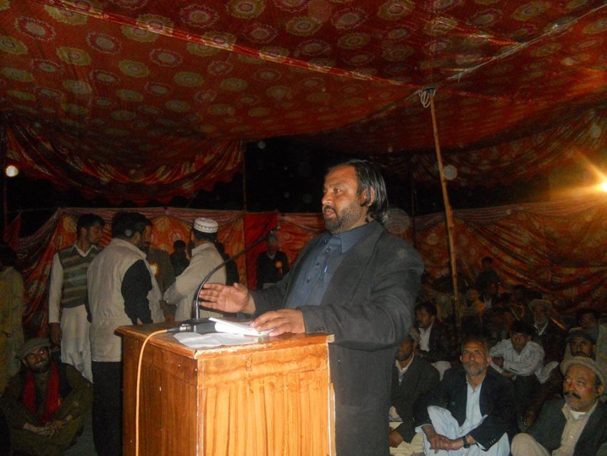
[[[51,260],[54,252],[75,240],[76,219],[91,209],[59,209],[31,237],[21,238],[18,256],[26,282],[24,323],[30,332],[44,332]],[[109,222],[120,209],[96,211],[106,222],[101,244],[109,242]],[[219,222],[218,238],[235,254],[276,226],[281,249],[291,264],[308,239],[324,229],[320,214],[245,214],[201,209],[141,209],[154,222],[152,242],[171,252],[176,239],[189,239],[196,217]],[[482,257],[493,257],[503,291],[514,284],[538,289],[563,314],[579,307],[601,309],[607,295],[607,207],[601,199],[568,199],[456,211],[456,252],[462,272],[476,277]],[[416,217],[416,231],[407,217],[392,217],[387,228],[415,242],[426,264],[429,284],[448,276],[444,217]],[[236,259],[241,281],[255,287],[255,259],[261,243]],[[202,277],[201,277],[202,279]]]

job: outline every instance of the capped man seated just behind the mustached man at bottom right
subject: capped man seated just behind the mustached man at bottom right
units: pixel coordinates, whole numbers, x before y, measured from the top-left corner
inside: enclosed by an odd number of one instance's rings
[[[580,327],[571,328],[567,336],[568,348],[572,356],[594,358],[594,339],[591,334]],[[563,393],[563,374],[560,369],[553,369],[550,377],[543,382],[533,395],[527,410],[523,411],[523,426],[533,425],[543,403],[551,399],[560,399]]]

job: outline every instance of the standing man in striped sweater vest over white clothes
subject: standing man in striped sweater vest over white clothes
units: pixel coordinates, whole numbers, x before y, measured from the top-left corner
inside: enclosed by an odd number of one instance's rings
[[[61,361],[73,365],[89,382],[91,343],[86,319],[86,270],[99,253],[104,219],[82,214],[76,223],[76,243],[56,252],[49,284],[49,329],[51,342],[61,345]],[[59,324],[61,322],[61,324]]]

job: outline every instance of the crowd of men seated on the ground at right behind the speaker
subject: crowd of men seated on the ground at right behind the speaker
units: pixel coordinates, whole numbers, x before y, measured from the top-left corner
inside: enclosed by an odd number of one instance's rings
[[[522,285],[498,294],[490,266],[482,291],[460,287],[458,330],[436,294],[416,306],[393,367],[391,455],[607,456],[607,324]]]

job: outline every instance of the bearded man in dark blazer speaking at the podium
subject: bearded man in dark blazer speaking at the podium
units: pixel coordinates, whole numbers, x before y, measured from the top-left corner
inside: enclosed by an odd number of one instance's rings
[[[326,233],[312,239],[274,287],[208,284],[200,297],[224,312],[254,314],[254,327],[334,334],[329,344],[340,456],[386,456],[391,370],[411,327],[423,263],[383,229],[388,199],[383,178],[364,160],[326,174]]]

